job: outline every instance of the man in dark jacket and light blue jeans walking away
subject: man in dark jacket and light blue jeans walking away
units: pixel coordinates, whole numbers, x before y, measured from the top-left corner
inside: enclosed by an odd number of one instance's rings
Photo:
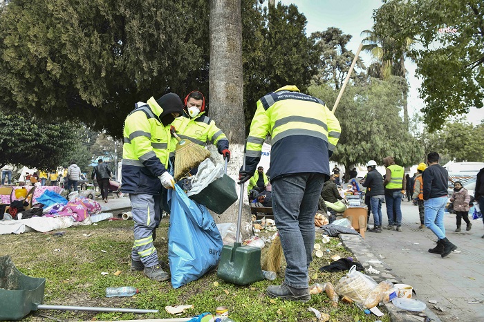
[[[438,160],[440,155],[431,152],[427,155],[429,167],[423,171],[423,198],[425,207],[425,227],[429,228],[438,238],[437,246],[429,249],[430,253],[445,257],[457,246],[445,237],[444,211],[447,205],[447,189],[449,189],[449,174]]]

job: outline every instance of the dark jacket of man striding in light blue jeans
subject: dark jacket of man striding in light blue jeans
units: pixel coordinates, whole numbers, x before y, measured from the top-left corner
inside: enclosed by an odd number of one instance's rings
[[[449,173],[440,164],[432,164],[422,173],[424,200],[447,196]]]

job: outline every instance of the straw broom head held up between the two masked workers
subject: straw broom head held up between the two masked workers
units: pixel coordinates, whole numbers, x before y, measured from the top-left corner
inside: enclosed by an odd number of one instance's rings
[[[175,179],[179,179],[209,158],[210,151],[190,140],[180,139],[173,128],[170,132],[178,140],[175,151]]]

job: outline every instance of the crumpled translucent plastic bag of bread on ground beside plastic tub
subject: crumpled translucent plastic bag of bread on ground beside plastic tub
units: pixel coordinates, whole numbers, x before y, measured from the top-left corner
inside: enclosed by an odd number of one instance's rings
[[[339,279],[335,291],[339,296],[348,296],[356,303],[364,304],[377,283],[373,278],[356,270],[353,265],[346,276]]]

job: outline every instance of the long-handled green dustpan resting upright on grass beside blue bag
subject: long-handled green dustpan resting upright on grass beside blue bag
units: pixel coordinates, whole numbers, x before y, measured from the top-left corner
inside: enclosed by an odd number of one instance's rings
[[[245,170],[245,149],[243,152],[242,170]],[[221,260],[217,269],[219,278],[236,285],[248,285],[264,279],[261,269],[261,249],[259,247],[241,245],[240,232],[244,186],[245,184],[241,185],[239,197],[236,243],[223,246]]]

